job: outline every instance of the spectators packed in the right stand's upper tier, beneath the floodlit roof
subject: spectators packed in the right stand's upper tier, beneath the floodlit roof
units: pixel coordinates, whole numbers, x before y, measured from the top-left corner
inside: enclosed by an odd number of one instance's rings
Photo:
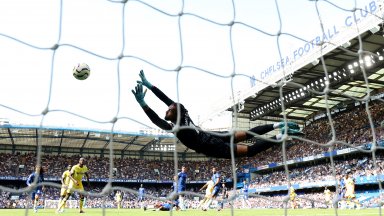
[[[380,127],[384,121],[383,104],[373,103],[369,111],[375,127],[376,140],[384,140],[384,128]],[[335,141],[338,141],[338,143],[332,144],[332,150],[357,147],[373,140],[365,105],[335,114],[332,116],[332,125],[335,129]],[[324,116],[304,126],[303,132],[305,133],[303,138],[316,142],[316,144],[300,139],[291,140],[286,151],[287,160],[313,156],[330,150],[330,146],[326,144],[332,140],[333,134],[328,117]],[[339,142],[344,142],[346,145]],[[259,167],[272,162],[283,162],[280,146],[271,151],[260,153],[253,158],[243,158],[240,164]]]

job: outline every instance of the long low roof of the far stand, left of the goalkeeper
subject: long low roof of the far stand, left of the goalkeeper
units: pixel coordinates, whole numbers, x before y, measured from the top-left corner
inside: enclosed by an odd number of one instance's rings
[[[113,142],[111,142],[113,140]],[[46,128],[36,126],[2,125],[0,128],[0,145],[9,147],[30,146],[76,149],[109,150],[111,143],[115,151],[173,151],[175,139],[169,134],[124,133],[100,130]],[[176,145],[178,152],[186,152],[184,145]],[[8,149],[11,149],[8,148]]]

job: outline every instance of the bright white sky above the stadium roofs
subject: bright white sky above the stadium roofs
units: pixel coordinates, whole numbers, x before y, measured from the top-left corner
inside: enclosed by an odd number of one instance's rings
[[[313,54],[318,47],[305,45],[323,35],[321,24],[325,40],[343,38],[342,32],[356,31],[355,22],[366,19],[360,12],[353,18],[351,10],[376,12],[375,6],[375,0],[2,0],[0,118],[156,128],[131,93],[144,70],[153,85],[187,107],[195,123],[230,127],[230,115],[222,111],[232,96],[281,79],[287,71],[270,70],[281,58],[295,65]],[[277,37],[279,32],[284,34]],[[78,63],[90,66],[87,80],[72,76]],[[263,83],[251,86],[252,76]],[[166,105],[151,92],[145,100],[164,116]],[[209,120],[212,113],[220,117]]]

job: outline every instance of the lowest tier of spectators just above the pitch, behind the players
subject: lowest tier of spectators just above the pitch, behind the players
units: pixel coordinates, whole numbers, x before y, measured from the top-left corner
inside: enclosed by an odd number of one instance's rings
[[[103,188],[94,187],[92,188],[93,193],[97,194],[101,192]],[[134,191],[137,188],[129,188],[130,191]],[[137,194],[132,193],[130,191],[123,192],[123,198],[121,206],[122,208],[142,208],[142,203],[138,200]],[[171,193],[170,188],[158,186],[158,187],[149,187],[146,188],[147,195],[152,197],[158,197],[159,199],[146,198],[144,203],[145,206],[154,206],[156,203],[164,202],[163,200],[169,198],[168,195]],[[198,193],[198,188],[190,188],[189,191]],[[40,205],[44,205],[44,200],[58,200],[59,199],[58,188],[48,188],[44,192],[44,197],[41,200]],[[243,204],[243,198],[239,195],[240,191],[236,191],[237,196],[232,197],[234,195],[233,190],[230,191],[230,199],[225,202],[225,208],[230,208],[233,206],[236,209],[241,208],[249,208],[245,207]],[[159,196],[160,195],[160,196]],[[186,196],[185,198],[185,206],[187,209],[197,209],[199,205],[199,200],[201,200],[203,194],[199,197],[194,195]],[[336,194],[332,192],[332,200],[335,199]],[[30,197],[27,193],[22,194],[18,199],[11,199],[11,193],[2,191],[0,194],[0,208],[26,208],[30,207]],[[286,194],[278,194],[273,196],[267,195],[257,195],[252,194],[249,196],[248,201],[250,202],[251,208],[290,208],[290,203],[286,199]],[[374,197],[372,199],[368,199],[362,203],[362,207],[378,207],[383,204],[383,194]],[[75,194],[71,200],[77,200],[78,196]],[[220,198],[221,199],[221,198]],[[219,199],[219,200],[220,200]],[[324,193],[322,192],[312,192],[312,193],[301,193],[297,196],[297,202],[300,208],[330,208],[333,204],[326,203],[324,200]],[[215,203],[213,203],[215,205]],[[75,207],[77,204],[75,204]],[[116,208],[117,203],[115,200],[115,191],[111,191],[109,195],[105,195],[103,197],[98,196],[88,196],[86,198],[86,208]],[[46,204],[45,208],[56,208],[57,202],[52,202],[50,204]]]

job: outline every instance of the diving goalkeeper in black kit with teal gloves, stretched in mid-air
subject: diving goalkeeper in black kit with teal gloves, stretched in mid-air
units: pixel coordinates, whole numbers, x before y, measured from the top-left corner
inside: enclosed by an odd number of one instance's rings
[[[197,153],[202,153],[209,157],[215,158],[231,158],[230,140],[231,135],[219,136],[216,134],[208,133],[207,131],[201,130],[197,127],[192,119],[189,117],[188,110],[180,103],[175,103],[173,100],[168,98],[160,89],[152,85],[146,79],[144,72],[140,71],[139,74],[141,81],[137,81],[135,90],[132,90],[136,101],[143,108],[149,119],[163,130],[172,130],[177,123],[177,112],[180,112],[180,130],[174,132],[175,136],[183,143],[186,147],[195,150]],[[164,119],[161,119],[144,101],[146,91],[143,91],[143,86],[150,89],[161,101],[167,106],[168,110],[165,113]],[[169,123],[170,122],[170,123]],[[255,134],[265,134],[276,128],[282,129],[284,133],[285,126],[288,127],[287,133],[289,135],[300,135],[300,127],[294,122],[279,122],[275,124],[266,124],[254,127],[248,132]],[[271,137],[271,139],[279,140],[282,134]],[[234,155],[235,157],[252,157],[257,153],[265,151],[279,142],[272,142],[264,139],[255,139],[252,145],[237,144],[239,142],[254,138],[252,134],[246,131],[236,131],[234,133]]]

